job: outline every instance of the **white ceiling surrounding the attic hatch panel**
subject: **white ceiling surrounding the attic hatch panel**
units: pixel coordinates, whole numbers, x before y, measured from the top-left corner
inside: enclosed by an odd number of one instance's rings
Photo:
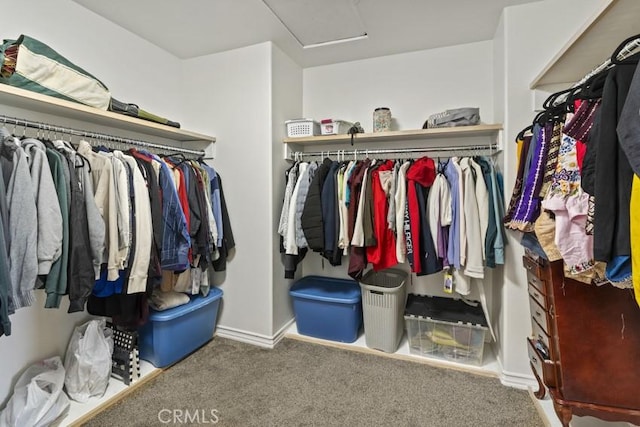
[[[504,7],[539,0],[352,0],[361,18],[354,25],[363,25],[368,37],[311,49],[262,0],[74,1],[179,58],[273,41],[311,67],[490,40]],[[313,23],[311,13],[298,18]]]

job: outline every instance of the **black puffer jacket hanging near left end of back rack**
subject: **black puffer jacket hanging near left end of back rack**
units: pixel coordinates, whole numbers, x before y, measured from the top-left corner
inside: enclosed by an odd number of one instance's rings
[[[322,252],[324,250],[324,223],[322,220],[322,187],[331,167],[331,160],[325,158],[309,185],[307,199],[302,210],[302,231],[307,239],[309,249]]]

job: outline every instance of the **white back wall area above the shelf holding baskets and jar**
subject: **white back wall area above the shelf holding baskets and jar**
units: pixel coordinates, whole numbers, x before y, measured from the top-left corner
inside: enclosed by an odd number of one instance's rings
[[[394,129],[419,129],[430,114],[470,106],[492,123],[492,55],[486,41],[306,68],[304,116],[371,132],[376,107],[391,109]]]

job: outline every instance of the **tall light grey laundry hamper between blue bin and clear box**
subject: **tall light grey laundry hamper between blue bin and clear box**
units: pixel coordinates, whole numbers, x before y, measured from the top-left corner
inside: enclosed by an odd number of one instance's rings
[[[393,353],[404,333],[407,273],[396,269],[369,271],[360,280],[367,347]]]

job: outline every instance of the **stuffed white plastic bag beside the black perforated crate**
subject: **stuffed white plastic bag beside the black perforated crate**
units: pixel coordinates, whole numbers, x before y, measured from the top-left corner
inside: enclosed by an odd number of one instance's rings
[[[90,320],[76,327],[64,358],[67,394],[84,403],[91,396],[102,396],[111,377],[113,332],[104,319]]]

